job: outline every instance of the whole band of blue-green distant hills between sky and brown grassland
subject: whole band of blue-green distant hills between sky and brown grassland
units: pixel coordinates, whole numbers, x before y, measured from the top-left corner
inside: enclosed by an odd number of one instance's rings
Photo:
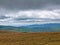
[[[57,32],[60,31],[60,23],[34,24],[28,26],[2,26],[0,30],[13,30],[18,32]]]

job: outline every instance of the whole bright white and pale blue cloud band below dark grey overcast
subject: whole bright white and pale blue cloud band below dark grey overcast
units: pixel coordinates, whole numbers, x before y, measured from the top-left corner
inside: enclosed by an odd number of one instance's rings
[[[52,20],[60,21],[60,10],[20,10],[20,11],[0,11],[0,17],[8,18],[0,19],[0,25],[23,25],[34,23],[47,23]],[[3,17],[2,17],[3,18]]]

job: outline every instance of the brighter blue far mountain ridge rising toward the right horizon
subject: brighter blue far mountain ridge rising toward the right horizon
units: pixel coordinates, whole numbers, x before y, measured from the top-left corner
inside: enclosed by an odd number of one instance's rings
[[[53,27],[60,27],[60,23],[49,23],[49,24],[34,24],[23,26],[25,28],[53,28]]]

